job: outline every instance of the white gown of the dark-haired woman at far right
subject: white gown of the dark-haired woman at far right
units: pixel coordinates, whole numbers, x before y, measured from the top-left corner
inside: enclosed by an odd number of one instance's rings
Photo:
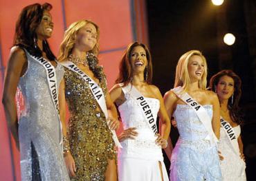
[[[238,138],[241,133],[241,128],[238,125],[233,127],[235,135]],[[219,150],[224,160],[221,160],[221,173],[223,181],[244,181],[246,180],[245,162],[237,155],[235,150],[232,148],[230,140],[226,135],[225,130],[221,127],[221,136],[219,139]],[[238,142],[235,147],[239,153]]]

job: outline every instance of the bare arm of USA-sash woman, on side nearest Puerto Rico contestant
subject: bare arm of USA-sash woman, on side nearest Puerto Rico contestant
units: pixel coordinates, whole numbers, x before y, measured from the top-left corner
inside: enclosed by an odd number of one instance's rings
[[[172,91],[169,91],[169,92],[165,93],[163,100],[164,100],[165,109],[167,111],[167,116],[169,117],[169,119],[171,119],[173,111],[174,111],[174,107],[176,107],[177,98]],[[167,142],[168,142],[169,146],[167,148],[165,148],[165,153],[167,154],[168,158],[170,159],[172,156],[172,149],[173,149],[171,138],[168,138]]]

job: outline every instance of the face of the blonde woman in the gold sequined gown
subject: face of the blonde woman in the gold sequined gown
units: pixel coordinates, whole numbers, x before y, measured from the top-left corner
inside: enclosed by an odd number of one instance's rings
[[[93,50],[93,47],[97,43],[97,35],[95,25],[86,23],[86,25],[77,32],[75,47],[85,52]]]

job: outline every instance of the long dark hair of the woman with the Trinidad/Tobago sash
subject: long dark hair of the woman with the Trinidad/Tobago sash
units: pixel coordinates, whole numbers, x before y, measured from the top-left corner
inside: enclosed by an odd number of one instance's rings
[[[42,51],[37,46],[37,34],[35,30],[42,21],[45,10],[51,10],[53,6],[50,3],[34,3],[26,6],[19,14],[19,19],[16,22],[15,38],[13,45],[17,45],[26,49],[34,56],[42,56]],[[49,60],[53,61],[55,55],[46,40],[43,41],[43,51]]]

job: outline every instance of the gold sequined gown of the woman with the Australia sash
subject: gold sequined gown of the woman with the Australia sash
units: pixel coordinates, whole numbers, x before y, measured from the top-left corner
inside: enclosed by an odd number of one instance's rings
[[[65,71],[65,92],[70,119],[68,140],[77,171],[73,180],[104,180],[108,159],[116,159],[115,145],[104,113],[88,83],[71,70]],[[104,94],[106,79],[100,81]]]

